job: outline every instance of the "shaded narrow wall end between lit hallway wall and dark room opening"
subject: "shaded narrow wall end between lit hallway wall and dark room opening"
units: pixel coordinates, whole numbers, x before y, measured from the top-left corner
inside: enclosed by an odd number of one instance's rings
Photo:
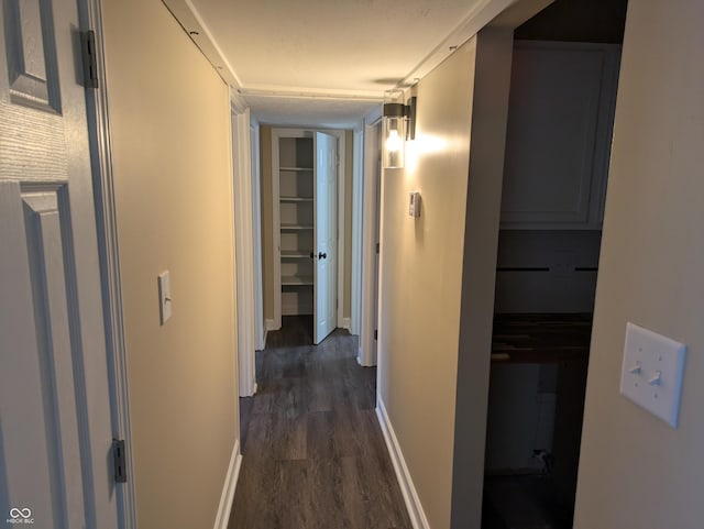
[[[513,29],[485,27],[476,36],[452,480],[452,527],[457,529],[480,529],[482,521],[494,286],[513,47]]]

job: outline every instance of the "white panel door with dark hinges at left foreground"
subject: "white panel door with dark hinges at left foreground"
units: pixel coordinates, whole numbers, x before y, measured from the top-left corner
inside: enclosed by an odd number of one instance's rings
[[[0,8],[0,520],[117,528],[76,0]]]

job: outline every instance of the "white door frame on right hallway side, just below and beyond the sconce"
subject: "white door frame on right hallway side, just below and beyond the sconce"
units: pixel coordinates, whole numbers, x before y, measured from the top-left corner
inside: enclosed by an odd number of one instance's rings
[[[378,106],[364,118],[364,188],[362,198],[362,286],[361,310],[362,321],[360,328],[360,350],[358,362],[363,366],[376,365],[376,349],[374,348],[374,331],[377,329],[375,321],[375,307],[378,302],[375,288],[376,267],[376,241],[381,227],[376,225],[377,212],[377,155],[378,146],[373,145],[374,128],[382,119],[382,107]]]

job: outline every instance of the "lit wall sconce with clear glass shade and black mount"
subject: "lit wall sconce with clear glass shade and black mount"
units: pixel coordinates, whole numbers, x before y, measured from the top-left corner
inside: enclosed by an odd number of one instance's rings
[[[416,139],[416,98],[404,103],[403,90],[384,92],[384,145],[382,166],[385,169],[403,168],[406,161],[406,140]]]

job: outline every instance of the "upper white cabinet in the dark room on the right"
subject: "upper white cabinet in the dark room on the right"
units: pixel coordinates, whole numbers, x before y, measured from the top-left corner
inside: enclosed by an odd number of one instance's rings
[[[517,41],[502,228],[601,229],[620,46]]]

